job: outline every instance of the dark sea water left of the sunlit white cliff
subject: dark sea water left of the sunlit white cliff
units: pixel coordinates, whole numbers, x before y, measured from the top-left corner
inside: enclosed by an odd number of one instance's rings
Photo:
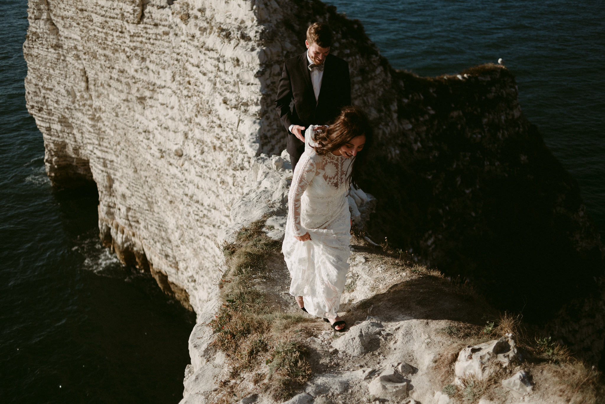
[[[27,1],[0,0],[0,403],[178,403],[194,314],[102,248],[25,109]]]

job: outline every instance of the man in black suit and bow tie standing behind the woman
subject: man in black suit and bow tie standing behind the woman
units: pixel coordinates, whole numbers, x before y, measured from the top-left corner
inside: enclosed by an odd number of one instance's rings
[[[288,130],[286,150],[292,171],[304,151],[304,130],[309,125],[329,124],[340,108],[351,104],[348,63],[330,55],[330,26],[319,22],[309,25],[304,43],[307,51],[284,63],[275,100],[275,108]],[[294,108],[290,110],[292,99]]]

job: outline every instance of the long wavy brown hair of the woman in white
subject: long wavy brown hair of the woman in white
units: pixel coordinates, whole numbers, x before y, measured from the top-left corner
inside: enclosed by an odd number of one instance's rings
[[[315,152],[319,155],[338,150],[356,136],[365,136],[365,144],[364,148],[358,151],[357,156],[351,157],[355,160],[348,180],[352,181],[353,184],[359,178],[360,167],[365,163],[368,150],[373,143],[372,128],[368,116],[358,107],[348,105],[342,108],[338,118],[330,124],[330,127],[324,133],[315,132],[314,135]]]

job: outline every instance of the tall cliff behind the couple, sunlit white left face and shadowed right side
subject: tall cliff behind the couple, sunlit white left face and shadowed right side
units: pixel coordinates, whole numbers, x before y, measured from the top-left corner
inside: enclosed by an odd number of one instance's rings
[[[527,301],[535,323],[598,360],[603,247],[506,68],[394,71],[359,22],[315,0],[29,6],[27,107],[48,175],[59,187],[94,180],[105,243],[184,305],[208,302],[255,157],[285,145],[272,107],[281,65],[304,50],[306,25],[325,21],[376,128],[361,183],[379,200],[369,234],[468,278],[500,308]]]

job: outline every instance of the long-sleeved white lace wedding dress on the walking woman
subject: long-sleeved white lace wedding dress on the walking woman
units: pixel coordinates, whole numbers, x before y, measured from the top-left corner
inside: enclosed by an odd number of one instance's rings
[[[336,317],[350,256],[350,211],[347,177],[355,157],[310,147],[313,125],[305,133],[305,151],[293,174],[288,194],[288,218],[282,252],[292,283],[290,294],[302,296],[309,314]],[[311,236],[299,241],[294,236]]]

